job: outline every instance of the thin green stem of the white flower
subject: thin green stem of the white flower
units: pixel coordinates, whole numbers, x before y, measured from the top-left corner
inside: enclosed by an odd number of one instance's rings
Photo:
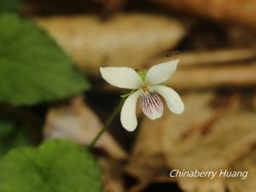
[[[119,114],[119,112],[122,109],[122,106],[125,102],[125,98],[121,98],[118,106],[113,109],[113,112],[109,116],[106,123],[103,125],[102,130],[96,135],[96,137],[93,139],[93,141],[90,143],[90,148],[93,148],[96,144],[96,142],[99,140],[100,137],[102,137],[102,134],[108,130],[109,126],[113,123],[113,120],[116,118],[116,116]]]

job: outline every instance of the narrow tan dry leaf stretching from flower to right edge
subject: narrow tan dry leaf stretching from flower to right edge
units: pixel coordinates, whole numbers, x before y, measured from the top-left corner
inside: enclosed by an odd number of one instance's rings
[[[256,63],[225,67],[193,67],[177,70],[166,84],[178,89],[209,88],[220,85],[242,87],[256,84]]]

